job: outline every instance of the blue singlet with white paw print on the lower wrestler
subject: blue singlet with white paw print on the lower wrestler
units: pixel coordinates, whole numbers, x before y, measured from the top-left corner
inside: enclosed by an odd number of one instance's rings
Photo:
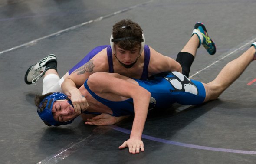
[[[164,72],[151,76],[145,81],[134,80],[151,93],[150,108],[168,108],[175,102],[182,105],[198,105],[203,103],[205,99],[203,84],[188,79],[180,72]],[[113,112],[112,116],[134,115],[132,98],[119,102],[109,101],[92,92],[87,85],[87,80],[84,86],[92,97],[111,108]]]

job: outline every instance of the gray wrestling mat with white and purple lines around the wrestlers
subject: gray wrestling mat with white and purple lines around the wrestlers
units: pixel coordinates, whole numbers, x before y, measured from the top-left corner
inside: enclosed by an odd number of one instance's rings
[[[132,118],[112,126],[47,127],[26,85],[27,68],[50,53],[63,75],[95,46],[109,44],[112,26],[130,18],[146,44],[176,59],[202,21],[217,45],[203,47],[192,79],[210,82],[227,62],[256,40],[256,0],[2,0],[0,2],[1,164],[254,164],[256,161],[256,63],[218,100],[200,106],[173,105],[151,111],[144,128],[145,151],[118,150],[129,138]]]

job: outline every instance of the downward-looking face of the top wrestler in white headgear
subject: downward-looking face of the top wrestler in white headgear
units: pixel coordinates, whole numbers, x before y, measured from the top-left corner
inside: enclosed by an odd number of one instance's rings
[[[121,49],[117,45],[115,45],[116,58],[125,66],[134,65],[136,60],[139,57],[140,47],[135,47],[131,51]]]

